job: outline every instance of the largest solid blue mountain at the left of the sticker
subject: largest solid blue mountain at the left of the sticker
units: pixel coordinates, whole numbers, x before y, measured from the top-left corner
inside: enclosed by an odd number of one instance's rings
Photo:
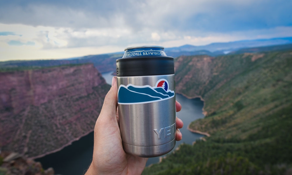
[[[118,94],[118,103],[139,103],[145,101],[159,100],[157,97],[132,92],[124,87],[120,87]]]

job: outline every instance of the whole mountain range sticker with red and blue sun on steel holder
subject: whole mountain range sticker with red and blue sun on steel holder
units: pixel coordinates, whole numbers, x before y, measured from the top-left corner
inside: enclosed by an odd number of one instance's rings
[[[174,97],[174,91],[168,88],[169,84],[166,79],[158,80],[154,87],[150,85],[120,85],[118,104],[143,104],[167,100]]]

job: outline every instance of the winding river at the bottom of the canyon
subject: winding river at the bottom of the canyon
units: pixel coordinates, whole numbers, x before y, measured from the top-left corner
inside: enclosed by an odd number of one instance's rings
[[[108,84],[112,84],[112,72],[104,73],[102,76]],[[176,94],[175,97],[176,100],[183,106],[182,110],[176,115],[184,122],[184,127],[180,129],[180,132],[183,134],[183,139],[176,142],[175,148],[177,148],[181,143],[192,144],[193,141],[203,136],[187,130],[187,125],[194,120],[204,117],[202,114],[204,104],[199,98],[187,99],[179,94]],[[175,150],[175,148],[173,150]],[[65,147],[64,149],[36,159],[36,161],[41,162],[44,169],[53,167],[55,174],[81,175],[84,174],[91,163],[92,154],[93,132],[82,137],[78,141],[74,141],[71,145]],[[159,157],[149,158],[146,166],[157,162],[159,162]]]

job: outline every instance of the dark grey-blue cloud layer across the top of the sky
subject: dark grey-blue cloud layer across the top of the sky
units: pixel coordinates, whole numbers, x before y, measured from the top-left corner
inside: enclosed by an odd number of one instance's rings
[[[53,27],[234,31],[292,25],[292,1],[4,1],[0,22]]]

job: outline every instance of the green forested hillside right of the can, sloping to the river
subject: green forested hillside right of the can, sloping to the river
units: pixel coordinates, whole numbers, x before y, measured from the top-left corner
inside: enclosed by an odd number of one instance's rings
[[[143,174],[292,174],[292,50],[179,57],[175,71],[177,92],[205,100],[190,128],[211,137]]]

